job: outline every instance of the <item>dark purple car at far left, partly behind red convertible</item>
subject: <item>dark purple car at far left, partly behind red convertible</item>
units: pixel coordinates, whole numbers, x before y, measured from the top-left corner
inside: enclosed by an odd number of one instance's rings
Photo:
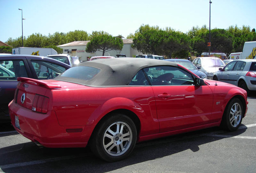
[[[17,77],[54,78],[70,68],[52,58],[35,55],[0,55],[0,61],[5,65],[0,65],[0,123],[10,122],[8,103],[14,97]]]

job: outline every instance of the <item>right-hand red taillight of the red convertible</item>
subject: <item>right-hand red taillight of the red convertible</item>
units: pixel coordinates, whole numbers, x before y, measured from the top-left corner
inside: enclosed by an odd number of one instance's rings
[[[33,104],[32,104],[32,111],[39,112],[39,113],[47,113],[49,105],[49,98],[42,96],[42,95],[35,95]]]

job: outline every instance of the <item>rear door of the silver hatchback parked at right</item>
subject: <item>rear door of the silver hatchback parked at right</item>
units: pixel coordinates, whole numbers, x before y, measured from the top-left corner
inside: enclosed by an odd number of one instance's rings
[[[244,62],[244,61],[237,61],[237,63],[235,64],[233,70],[231,70],[230,74],[229,74],[229,82],[231,84],[234,84],[234,85],[237,84],[237,80],[239,79],[240,74],[243,71],[245,65],[246,65],[246,62]]]

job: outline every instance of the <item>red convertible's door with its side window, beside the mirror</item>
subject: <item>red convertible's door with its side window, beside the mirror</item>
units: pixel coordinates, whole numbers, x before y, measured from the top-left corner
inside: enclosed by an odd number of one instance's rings
[[[190,72],[173,66],[150,67],[145,72],[152,78],[161,132],[214,121],[213,92],[207,85],[196,87]]]

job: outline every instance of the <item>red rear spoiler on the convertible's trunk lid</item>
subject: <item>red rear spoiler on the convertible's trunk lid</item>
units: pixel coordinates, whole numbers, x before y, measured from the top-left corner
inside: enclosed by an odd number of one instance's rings
[[[27,82],[29,84],[37,85],[40,87],[45,87],[47,89],[61,88],[60,85],[52,84],[50,82],[46,82],[45,80],[37,80],[37,79],[25,78],[25,77],[17,77],[17,80],[20,82]]]

